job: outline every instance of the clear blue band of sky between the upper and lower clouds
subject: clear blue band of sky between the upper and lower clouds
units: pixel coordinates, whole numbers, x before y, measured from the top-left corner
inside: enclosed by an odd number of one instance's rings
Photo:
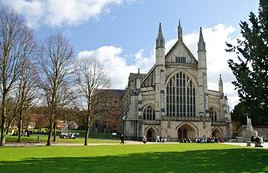
[[[109,4],[96,18],[71,25],[39,26],[41,38],[57,31],[66,32],[77,52],[96,49],[103,45],[123,47],[126,53],[143,48],[151,50],[156,37],[157,25],[163,23],[165,38],[176,36],[180,19],[184,33],[200,26],[219,23],[238,27],[250,11],[256,11],[256,0],[138,0],[120,5]]]

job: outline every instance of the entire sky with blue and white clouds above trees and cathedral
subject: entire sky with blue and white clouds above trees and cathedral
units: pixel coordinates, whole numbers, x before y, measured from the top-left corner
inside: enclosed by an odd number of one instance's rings
[[[155,62],[159,22],[166,52],[176,42],[180,20],[183,40],[197,58],[199,28],[207,49],[208,89],[218,90],[222,74],[231,109],[238,103],[225,42],[240,37],[239,22],[257,13],[258,0],[0,0],[1,9],[25,17],[36,39],[62,32],[76,57],[98,59],[112,88],[124,89],[130,72],[148,72]]]

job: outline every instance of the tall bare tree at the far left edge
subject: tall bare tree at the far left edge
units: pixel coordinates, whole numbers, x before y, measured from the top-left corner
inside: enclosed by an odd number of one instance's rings
[[[7,99],[21,73],[22,56],[32,44],[32,31],[15,13],[0,12],[1,141],[5,144]]]

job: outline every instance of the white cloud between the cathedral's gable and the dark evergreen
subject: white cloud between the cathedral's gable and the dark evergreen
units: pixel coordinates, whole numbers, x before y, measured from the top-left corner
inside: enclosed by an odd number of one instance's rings
[[[208,74],[208,89],[218,90],[219,74],[222,74],[224,83],[224,92],[229,98],[229,104],[233,108],[238,102],[237,91],[231,81],[235,78],[231,69],[228,66],[227,60],[232,56],[225,51],[226,42],[234,42],[236,37],[235,28],[218,24],[213,27],[204,27],[202,29],[207,50],[207,74]],[[197,58],[197,42],[199,39],[199,30],[184,36],[184,42]]]

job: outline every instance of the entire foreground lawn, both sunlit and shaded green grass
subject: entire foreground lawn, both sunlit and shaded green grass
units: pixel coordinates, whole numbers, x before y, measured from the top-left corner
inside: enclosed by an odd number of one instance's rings
[[[268,172],[268,150],[222,144],[0,148],[0,173]]]

